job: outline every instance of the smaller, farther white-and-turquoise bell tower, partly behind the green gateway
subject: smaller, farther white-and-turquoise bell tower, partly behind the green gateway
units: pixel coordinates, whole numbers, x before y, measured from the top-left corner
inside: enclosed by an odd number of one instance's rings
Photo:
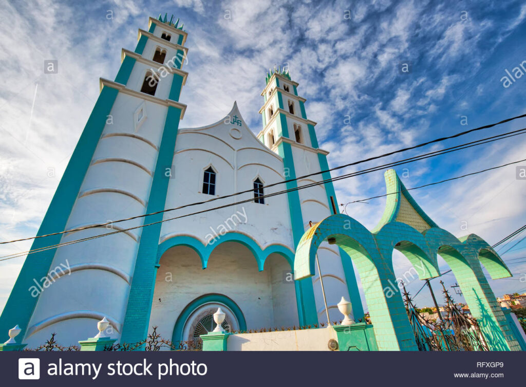
[[[314,128],[316,122],[307,118],[306,99],[298,95],[298,85],[292,81],[288,71],[280,68],[266,74],[266,86],[261,92],[264,104],[259,110],[263,129],[258,134],[262,143],[283,158],[287,180],[320,172],[286,183],[288,190],[300,188],[298,191],[287,193],[295,246],[309,229],[309,222],[316,223],[333,213],[338,213],[332,182],[301,188],[329,179],[330,173],[322,172],[329,169],[328,152],[318,146]],[[311,283],[300,281],[305,321],[308,324],[327,321],[321,282],[325,287],[331,321],[341,318],[337,304],[342,296],[351,301],[355,319],[361,319],[363,307],[350,257],[327,242],[320,246],[318,257],[321,281],[319,273],[308,279]]]

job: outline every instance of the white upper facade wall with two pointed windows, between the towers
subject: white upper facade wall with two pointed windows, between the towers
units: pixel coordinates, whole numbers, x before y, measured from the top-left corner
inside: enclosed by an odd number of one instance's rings
[[[228,116],[237,115],[242,120],[237,105]],[[228,117],[227,116],[227,117]],[[226,117],[226,121],[229,119]],[[230,135],[234,128],[234,138]],[[208,166],[216,171],[216,192],[214,195],[201,193],[203,173]],[[243,121],[242,126],[224,120],[202,127],[181,129],[177,136],[173,162],[173,178],[168,186],[166,208],[213,199],[217,196],[252,190],[253,181],[259,177],[264,184],[284,181],[284,166],[281,158],[261,144]],[[282,190],[284,185],[268,188],[265,194]],[[254,203],[254,194],[248,192],[235,197],[211,203],[170,211],[164,219],[184,215],[232,203],[249,200],[222,210],[163,223],[160,241],[177,235],[192,235],[203,242],[212,229],[217,230],[232,214],[242,213],[242,220],[232,230],[248,235],[262,249],[270,244],[281,244],[293,250],[290,215],[286,195],[265,199],[265,204]]]

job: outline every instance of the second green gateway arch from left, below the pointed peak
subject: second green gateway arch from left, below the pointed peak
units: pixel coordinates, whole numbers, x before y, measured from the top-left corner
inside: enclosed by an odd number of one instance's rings
[[[426,237],[410,225],[390,222],[380,229],[375,239],[381,254],[388,260],[392,270],[394,270],[392,253],[396,249],[411,262],[420,280],[439,276],[436,254],[430,253]]]

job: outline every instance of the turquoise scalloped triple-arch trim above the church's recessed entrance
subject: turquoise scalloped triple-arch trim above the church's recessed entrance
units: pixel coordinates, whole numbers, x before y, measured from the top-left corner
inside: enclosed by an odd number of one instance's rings
[[[258,270],[263,271],[265,267],[265,261],[267,257],[272,253],[277,253],[283,256],[289,263],[291,269],[294,266],[294,253],[283,245],[273,244],[267,246],[265,249],[261,247],[254,241],[251,237],[238,233],[238,232],[229,232],[224,235],[220,235],[219,238],[213,243],[205,245],[199,239],[189,236],[189,235],[177,235],[170,237],[169,239],[163,241],[159,244],[157,249],[157,264],[160,264],[160,259],[163,254],[175,246],[187,246],[190,249],[193,249],[199,259],[201,260],[201,265],[203,269],[206,269],[208,265],[208,259],[212,252],[222,243],[225,242],[238,242],[248,248],[258,265]]]

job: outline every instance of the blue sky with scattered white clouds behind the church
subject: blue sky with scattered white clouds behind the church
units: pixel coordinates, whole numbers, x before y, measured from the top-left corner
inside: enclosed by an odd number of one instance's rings
[[[320,147],[331,152],[330,166],[526,113],[526,76],[508,87],[501,81],[505,70],[526,60],[526,4],[520,0],[2,2],[0,240],[36,233],[97,99],[99,77],[113,80],[121,48],[133,50],[137,29],[165,12],[180,17],[189,34],[189,77],[180,98],[188,105],[184,127],[219,120],[237,100],[258,133],[265,71],[275,65],[288,66],[300,83],[307,116],[318,122]],[[57,59],[58,74],[44,74],[46,59]],[[410,63],[409,73],[400,72],[401,63]],[[423,151],[522,127],[524,118]],[[409,188],[519,161],[525,151],[526,136],[516,136],[397,172]],[[340,203],[381,195],[383,171],[342,180],[336,189]],[[491,244],[526,217],[526,180],[516,178],[515,165],[411,194],[444,229],[475,233]],[[374,199],[349,204],[346,212],[372,229],[384,205],[385,198]],[[525,236],[498,250],[515,274],[490,281],[498,296],[526,291]],[[30,245],[3,245],[0,255]],[[22,263],[0,262],[0,309]],[[395,256],[395,266],[398,275],[410,267],[403,255]],[[455,282],[452,275],[442,279],[447,286]],[[439,290],[438,280],[432,284]],[[421,285],[413,281],[409,291]],[[429,292],[416,303],[430,305]]]

